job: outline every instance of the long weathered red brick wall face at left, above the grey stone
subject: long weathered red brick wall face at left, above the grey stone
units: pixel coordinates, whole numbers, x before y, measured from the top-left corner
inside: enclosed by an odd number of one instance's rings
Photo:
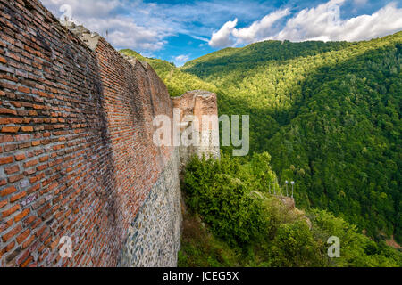
[[[102,38],[90,50],[37,0],[0,10],[0,266],[117,265],[176,152],[152,143],[152,118],[172,116],[166,87]]]

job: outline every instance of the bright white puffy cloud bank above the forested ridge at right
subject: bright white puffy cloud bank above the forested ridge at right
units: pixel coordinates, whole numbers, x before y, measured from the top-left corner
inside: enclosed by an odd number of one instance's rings
[[[266,15],[246,28],[236,28],[238,20],[226,22],[214,32],[209,45],[213,47],[236,46],[255,43],[266,39],[306,41],[359,41],[382,37],[402,29],[402,9],[391,3],[372,15],[361,15],[342,20],[340,8],[345,0],[331,0],[313,8],[297,12],[287,20],[280,31],[272,25],[289,16],[288,9]],[[364,4],[364,0],[356,0]]]

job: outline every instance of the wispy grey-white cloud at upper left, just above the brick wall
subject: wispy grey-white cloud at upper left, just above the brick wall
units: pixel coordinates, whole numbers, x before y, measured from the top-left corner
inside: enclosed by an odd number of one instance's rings
[[[42,0],[56,17],[66,15],[77,24],[100,33],[118,48],[135,48],[140,52],[159,50],[165,44],[165,37],[174,34],[172,26],[166,27],[162,20],[136,20],[147,17],[152,7],[146,4],[130,3],[124,0]],[[62,8],[62,9],[61,9]],[[141,8],[141,9],[140,9]],[[134,11],[134,14],[131,13]]]

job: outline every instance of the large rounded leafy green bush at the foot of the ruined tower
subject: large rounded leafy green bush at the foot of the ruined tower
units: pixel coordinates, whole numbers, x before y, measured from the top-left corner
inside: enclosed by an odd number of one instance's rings
[[[230,244],[264,240],[269,220],[264,217],[261,199],[249,195],[247,184],[239,178],[247,169],[239,161],[223,157],[192,159],[184,178],[188,206],[199,213],[215,234]]]

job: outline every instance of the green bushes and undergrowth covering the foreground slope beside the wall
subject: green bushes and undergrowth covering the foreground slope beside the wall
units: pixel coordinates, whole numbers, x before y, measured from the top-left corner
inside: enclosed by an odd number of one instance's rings
[[[270,155],[255,154],[250,162],[198,159],[188,164],[183,190],[194,215],[205,222],[189,226],[185,218],[182,266],[401,266],[401,254],[377,244],[355,225],[314,209],[306,216],[289,210],[279,199],[253,185],[271,173]],[[256,170],[255,170],[256,169]],[[237,177],[237,178],[234,178]],[[188,217],[187,217],[188,219]],[[194,220],[194,218],[193,218]],[[191,223],[190,223],[191,224]],[[212,234],[207,233],[210,230]],[[340,257],[329,258],[327,240],[337,236]]]

